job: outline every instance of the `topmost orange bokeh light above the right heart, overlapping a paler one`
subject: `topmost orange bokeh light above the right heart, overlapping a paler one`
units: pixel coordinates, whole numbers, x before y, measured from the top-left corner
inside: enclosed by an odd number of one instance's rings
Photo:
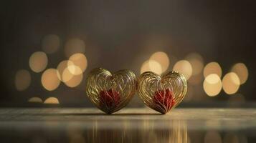
[[[161,65],[161,72],[166,71],[170,64],[169,57],[163,51],[157,51],[156,53],[152,54],[150,60],[157,61]]]

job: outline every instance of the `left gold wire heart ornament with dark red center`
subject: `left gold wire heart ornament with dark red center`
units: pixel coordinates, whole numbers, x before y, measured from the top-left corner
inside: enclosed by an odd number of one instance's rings
[[[86,93],[90,101],[107,114],[125,107],[136,92],[136,75],[132,71],[110,71],[97,68],[90,71]]]

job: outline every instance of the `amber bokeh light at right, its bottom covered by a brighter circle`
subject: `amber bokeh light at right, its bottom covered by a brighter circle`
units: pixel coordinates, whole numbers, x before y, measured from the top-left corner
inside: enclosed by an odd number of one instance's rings
[[[217,62],[210,62],[204,67],[204,77],[207,77],[209,74],[217,74],[219,77],[222,77],[222,68]]]

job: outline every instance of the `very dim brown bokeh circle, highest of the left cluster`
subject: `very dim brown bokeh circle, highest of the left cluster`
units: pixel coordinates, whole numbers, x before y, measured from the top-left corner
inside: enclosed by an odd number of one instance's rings
[[[47,54],[52,54],[60,47],[60,38],[57,35],[49,34],[42,39],[42,49]]]

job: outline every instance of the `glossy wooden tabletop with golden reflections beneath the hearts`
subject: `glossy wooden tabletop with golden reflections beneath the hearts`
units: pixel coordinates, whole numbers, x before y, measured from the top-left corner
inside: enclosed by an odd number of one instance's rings
[[[253,142],[256,109],[0,109],[3,142]]]

